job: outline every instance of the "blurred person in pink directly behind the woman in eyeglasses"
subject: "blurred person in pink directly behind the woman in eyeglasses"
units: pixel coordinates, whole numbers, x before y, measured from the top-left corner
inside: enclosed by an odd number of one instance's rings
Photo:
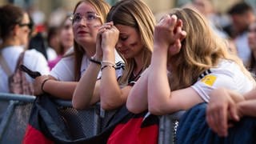
[[[55,49],[57,50],[58,57],[48,61],[50,69],[52,69],[61,60],[66,51],[70,50],[74,45],[74,34],[72,30],[72,22],[70,21],[70,14],[66,15],[66,18],[61,23],[58,33],[59,34],[56,35],[56,37],[58,38],[59,46],[58,49]]]

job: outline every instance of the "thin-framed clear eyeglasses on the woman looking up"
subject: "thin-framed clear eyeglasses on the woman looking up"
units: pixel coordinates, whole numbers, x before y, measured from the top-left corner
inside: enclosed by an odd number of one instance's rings
[[[70,16],[70,21],[72,21],[72,23],[78,23],[82,20],[82,18],[86,19],[87,24],[91,24],[91,23],[95,22],[95,20],[100,18],[100,16],[98,14],[95,14],[94,12],[87,12],[85,15],[72,14]]]

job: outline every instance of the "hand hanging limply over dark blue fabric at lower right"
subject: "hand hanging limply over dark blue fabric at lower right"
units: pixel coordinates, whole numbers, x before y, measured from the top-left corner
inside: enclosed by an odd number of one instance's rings
[[[229,93],[225,89],[213,90],[210,94],[210,102],[206,109],[206,121],[210,128],[219,136],[227,136],[229,120],[239,121],[237,102],[242,101],[242,96]],[[239,98],[241,97],[241,98]],[[239,99],[239,100],[238,100]]]

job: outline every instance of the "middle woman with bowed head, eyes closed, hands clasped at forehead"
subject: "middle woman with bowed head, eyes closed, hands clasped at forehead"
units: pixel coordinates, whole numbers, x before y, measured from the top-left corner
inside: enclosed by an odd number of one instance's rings
[[[99,30],[98,38],[101,39],[96,56],[102,59],[102,66],[90,65],[90,71],[86,71],[75,90],[73,106],[83,109],[99,99],[103,110],[123,106],[132,86],[150,65],[153,32],[154,15],[144,2],[130,0],[116,3],[107,15],[107,23]],[[125,70],[118,81],[114,67],[117,61],[115,49],[126,59]],[[95,74],[100,70],[102,78],[96,82]],[[94,90],[89,95],[88,85],[95,82],[100,83],[99,94],[95,94],[98,90]]]

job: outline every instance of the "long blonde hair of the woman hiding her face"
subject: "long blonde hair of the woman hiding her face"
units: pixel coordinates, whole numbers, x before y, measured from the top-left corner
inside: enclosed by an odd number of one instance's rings
[[[170,15],[172,14],[182,20],[182,29],[187,33],[182,41],[180,53],[170,58],[174,69],[170,77],[172,90],[191,86],[197,82],[199,74],[217,66],[221,59],[236,62],[242,72],[253,79],[242,61],[229,53],[225,40],[214,34],[201,14],[190,8],[174,9],[170,12]]]

